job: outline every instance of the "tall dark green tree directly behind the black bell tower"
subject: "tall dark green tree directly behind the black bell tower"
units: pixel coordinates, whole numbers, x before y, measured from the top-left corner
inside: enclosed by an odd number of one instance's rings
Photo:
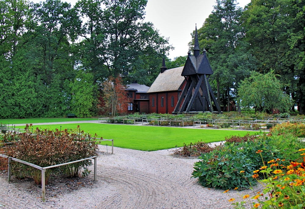
[[[245,32],[241,16],[242,8],[235,0],[217,0],[213,12],[198,30],[199,47],[207,50],[214,71],[211,79],[216,86],[218,105],[222,100],[224,109],[226,101],[230,104],[230,96],[237,94],[239,82],[256,69],[255,60],[245,50],[247,43],[242,41]]]

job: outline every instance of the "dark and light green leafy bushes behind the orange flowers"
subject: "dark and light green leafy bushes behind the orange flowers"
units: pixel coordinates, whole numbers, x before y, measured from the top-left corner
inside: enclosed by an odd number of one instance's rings
[[[268,136],[260,133],[253,141],[225,143],[224,147],[202,154],[194,164],[192,177],[199,178],[202,186],[216,189],[249,188],[256,181],[250,178],[253,170],[260,169],[270,159],[296,159],[296,150],[303,144],[291,134]],[[284,162],[285,163],[285,162]],[[242,171],[242,173],[241,173]],[[246,179],[247,178],[247,179]]]

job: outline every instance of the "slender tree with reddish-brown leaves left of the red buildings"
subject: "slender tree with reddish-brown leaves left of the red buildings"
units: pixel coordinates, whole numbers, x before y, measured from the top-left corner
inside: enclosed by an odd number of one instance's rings
[[[114,117],[116,113],[125,112],[127,110],[127,95],[125,92],[126,86],[123,85],[122,78],[110,76],[102,86],[102,98],[106,109],[111,111],[111,117]]]

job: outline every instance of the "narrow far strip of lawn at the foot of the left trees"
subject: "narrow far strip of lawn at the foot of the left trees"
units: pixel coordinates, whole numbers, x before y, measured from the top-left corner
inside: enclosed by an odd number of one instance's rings
[[[66,121],[91,121],[98,120],[98,118],[24,118],[24,119],[0,119],[3,124],[24,124],[24,123],[52,123],[52,122],[66,122]]]

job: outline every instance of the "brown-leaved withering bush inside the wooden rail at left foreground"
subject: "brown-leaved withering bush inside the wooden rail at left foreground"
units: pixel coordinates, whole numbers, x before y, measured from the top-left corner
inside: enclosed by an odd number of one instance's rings
[[[6,155],[40,167],[47,167],[92,157],[96,154],[95,138],[91,138],[79,127],[70,130],[70,132],[67,129],[51,131],[39,128],[30,132],[30,127],[27,125],[25,130],[25,133],[18,133],[14,136],[16,141],[12,146],[5,149]],[[88,165],[91,165],[91,160],[70,164],[58,169],[63,169],[67,176],[78,176],[81,168]],[[53,171],[56,171],[56,169],[47,169],[46,182]],[[41,184],[41,172],[35,168],[13,162],[12,172],[16,177],[32,177],[36,184]]]

